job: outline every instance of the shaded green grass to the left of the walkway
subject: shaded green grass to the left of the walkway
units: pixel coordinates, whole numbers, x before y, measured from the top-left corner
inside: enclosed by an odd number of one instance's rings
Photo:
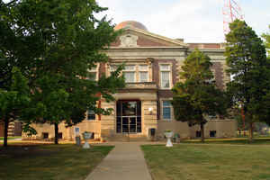
[[[83,149],[76,145],[0,147],[0,180],[84,180],[112,148],[92,146]]]

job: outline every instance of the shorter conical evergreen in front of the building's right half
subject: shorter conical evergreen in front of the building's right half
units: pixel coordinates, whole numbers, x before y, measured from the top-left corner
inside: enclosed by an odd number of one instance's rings
[[[195,49],[184,60],[182,81],[172,89],[175,119],[187,121],[189,126],[199,124],[202,142],[207,116],[226,113],[226,96],[216,87],[211,66],[211,59]]]

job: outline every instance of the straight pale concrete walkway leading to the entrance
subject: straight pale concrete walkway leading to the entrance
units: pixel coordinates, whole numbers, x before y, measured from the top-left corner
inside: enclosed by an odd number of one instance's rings
[[[151,180],[139,142],[117,142],[85,180]]]

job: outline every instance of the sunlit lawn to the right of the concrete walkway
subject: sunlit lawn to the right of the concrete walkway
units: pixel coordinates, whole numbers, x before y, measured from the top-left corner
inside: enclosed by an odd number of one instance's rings
[[[142,146],[153,180],[270,180],[270,146]]]

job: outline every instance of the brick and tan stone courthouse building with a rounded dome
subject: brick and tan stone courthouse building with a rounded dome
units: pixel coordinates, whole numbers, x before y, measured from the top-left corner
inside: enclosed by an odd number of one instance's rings
[[[98,64],[91,69],[96,78],[110,73],[125,63],[123,74],[126,87],[114,94],[115,101],[103,108],[113,108],[111,115],[96,115],[88,111],[85,121],[66,128],[59,125],[60,138],[74,139],[77,133],[94,132],[94,139],[124,140],[148,139],[150,131],[155,131],[156,139],[164,138],[164,130],[173,130],[182,139],[201,136],[199,126],[189,127],[186,122],[176,121],[170,103],[171,88],[179,80],[179,72],[184,59],[193,49],[200,49],[211,58],[211,70],[216,83],[225,88],[226,76],[224,46],[221,43],[185,43],[183,39],[170,39],[148,31],[141,23],[128,21],[118,24],[115,30],[124,29],[118,39],[106,50],[108,63]],[[35,138],[54,138],[54,126],[36,124]],[[235,136],[236,122],[220,117],[209,117],[205,124],[205,137],[226,138]]]

